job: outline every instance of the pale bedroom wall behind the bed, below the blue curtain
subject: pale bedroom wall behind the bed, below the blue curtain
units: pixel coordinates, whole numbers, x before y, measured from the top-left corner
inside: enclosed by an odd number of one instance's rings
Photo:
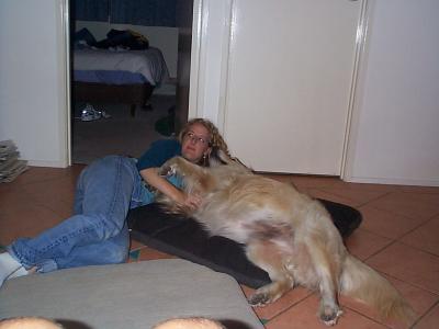
[[[131,24],[110,24],[108,22],[91,22],[91,21],[76,21],[76,31],[87,27],[97,41],[106,37],[106,33],[111,29],[115,30],[133,30],[144,36],[149,42],[151,47],[157,47],[161,50],[165,57],[166,65],[168,66],[169,77],[177,78],[177,56],[178,56],[178,27],[164,27],[164,26],[142,26]]]

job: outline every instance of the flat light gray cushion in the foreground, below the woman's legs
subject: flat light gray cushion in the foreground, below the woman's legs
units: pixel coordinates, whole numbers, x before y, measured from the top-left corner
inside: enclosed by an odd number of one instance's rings
[[[181,259],[76,268],[7,281],[0,318],[43,316],[75,328],[150,328],[204,316],[230,328],[263,328],[229,275]]]

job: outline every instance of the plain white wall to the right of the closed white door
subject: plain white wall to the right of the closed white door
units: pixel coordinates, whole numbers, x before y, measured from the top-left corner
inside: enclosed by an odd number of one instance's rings
[[[349,181],[439,185],[439,1],[370,1]]]

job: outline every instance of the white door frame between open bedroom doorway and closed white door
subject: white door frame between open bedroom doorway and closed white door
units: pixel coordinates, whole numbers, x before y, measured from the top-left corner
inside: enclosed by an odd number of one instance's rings
[[[194,0],[189,117],[211,120],[224,132],[234,0]]]

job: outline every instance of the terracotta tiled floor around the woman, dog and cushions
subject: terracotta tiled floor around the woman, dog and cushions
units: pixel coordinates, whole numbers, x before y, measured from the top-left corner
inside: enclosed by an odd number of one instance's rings
[[[81,166],[31,168],[13,183],[0,184],[0,245],[34,236],[69,216]],[[439,188],[353,184],[334,178],[272,175],[313,196],[360,209],[363,223],[346,243],[351,253],[385,275],[413,305],[414,328],[439,328]],[[136,241],[131,261],[171,256]],[[243,286],[246,294],[251,290]],[[341,297],[338,328],[398,328],[381,322],[373,310]],[[268,329],[324,328],[315,294],[296,288],[256,309]]]

